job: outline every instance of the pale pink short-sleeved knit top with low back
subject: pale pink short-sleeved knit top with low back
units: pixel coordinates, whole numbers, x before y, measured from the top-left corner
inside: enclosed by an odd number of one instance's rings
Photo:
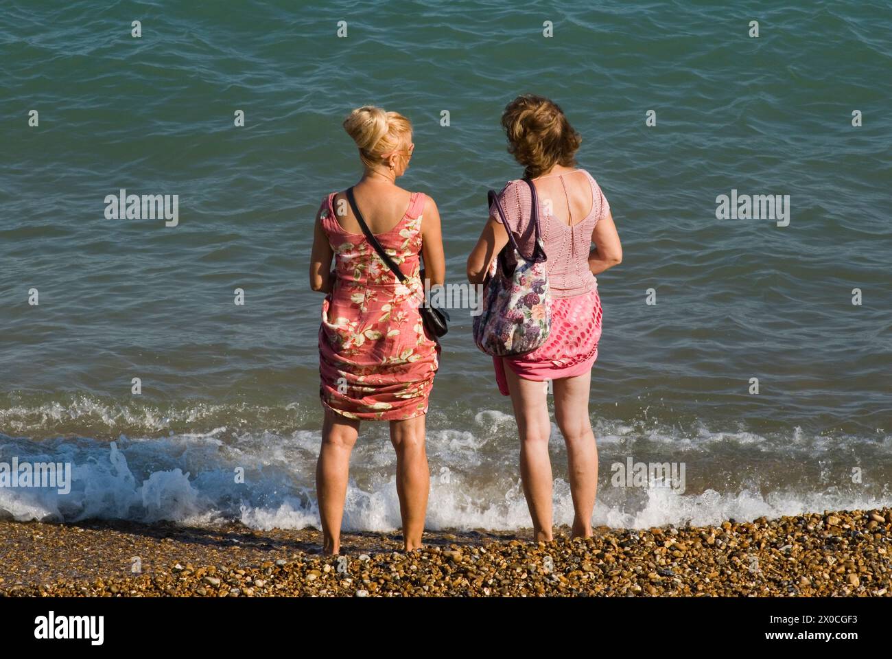
[[[584,172],[591,183],[591,211],[582,221],[568,225],[546,214],[542,208],[541,194],[538,195],[539,226],[542,246],[548,256],[549,288],[553,297],[579,296],[598,286],[598,280],[589,270],[591,232],[595,224],[610,213],[610,204],[607,204],[607,198],[591,174],[585,170],[578,171]],[[499,193],[499,201],[508,218],[508,229],[514,233],[521,253],[524,256],[533,254],[535,229],[531,222],[533,197],[529,186],[520,179],[508,181],[508,185]],[[490,217],[501,221],[494,207],[490,209]]]

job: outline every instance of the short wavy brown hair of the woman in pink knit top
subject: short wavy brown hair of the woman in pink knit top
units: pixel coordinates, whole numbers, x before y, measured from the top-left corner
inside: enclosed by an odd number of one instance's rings
[[[505,107],[501,123],[508,137],[508,153],[524,166],[524,173],[531,179],[556,164],[575,166],[582,137],[549,98],[517,96]]]

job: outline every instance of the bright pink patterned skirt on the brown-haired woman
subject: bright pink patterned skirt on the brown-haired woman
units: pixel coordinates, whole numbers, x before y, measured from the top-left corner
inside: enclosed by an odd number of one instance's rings
[[[573,297],[551,298],[551,331],[548,340],[520,357],[493,357],[496,382],[502,396],[509,396],[505,367],[524,380],[543,382],[574,378],[589,371],[598,358],[601,338],[601,299],[598,288]]]

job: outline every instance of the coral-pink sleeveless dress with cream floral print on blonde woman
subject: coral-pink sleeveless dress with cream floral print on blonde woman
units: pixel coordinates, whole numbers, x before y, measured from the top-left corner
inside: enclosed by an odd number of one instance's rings
[[[440,353],[418,313],[424,301],[419,254],[425,195],[412,193],[397,225],[375,235],[409,286],[396,279],[363,234],[341,227],[334,197],[326,197],[319,213],[335,252],[335,283],[322,303],[319,327],[322,405],[351,419],[424,414]]]

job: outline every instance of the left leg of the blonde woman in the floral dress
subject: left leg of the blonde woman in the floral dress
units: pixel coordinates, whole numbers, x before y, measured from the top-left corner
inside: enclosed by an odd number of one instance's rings
[[[350,478],[350,454],[359,435],[359,421],[347,419],[326,408],[322,446],[316,463],[316,497],[322,521],[322,551],[341,551],[341,521]]]

